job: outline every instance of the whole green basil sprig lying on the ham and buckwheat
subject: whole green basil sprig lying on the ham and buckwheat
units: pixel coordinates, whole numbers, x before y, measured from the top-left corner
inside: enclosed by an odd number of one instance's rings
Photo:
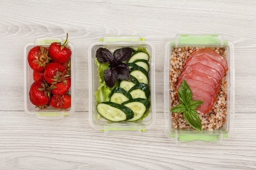
[[[178,90],[180,104],[171,109],[174,113],[183,113],[183,117],[190,126],[198,131],[202,131],[202,125],[198,113],[195,111],[203,101],[192,100],[192,92],[186,80],[182,81]]]

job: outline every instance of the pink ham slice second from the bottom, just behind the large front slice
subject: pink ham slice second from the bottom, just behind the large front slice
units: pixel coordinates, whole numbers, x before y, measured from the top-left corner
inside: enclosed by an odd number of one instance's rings
[[[197,70],[192,70],[189,73],[182,72],[182,75],[179,77],[179,80],[177,82],[177,86],[180,86],[180,84],[184,79],[194,79],[194,80],[207,83],[210,86],[212,86],[215,92],[219,90],[219,87],[220,87],[219,82],[214,77],[207,75],[205,73],[201,73]]]

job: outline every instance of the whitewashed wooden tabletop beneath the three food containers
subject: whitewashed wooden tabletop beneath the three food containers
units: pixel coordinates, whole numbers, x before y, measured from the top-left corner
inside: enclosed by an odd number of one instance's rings
[[[256,169],[256,1],[1,0],[1,170]],[[24,112],[23,48],[40,37],[75,47],[76,112],[46,121]],[[235,132],[222,145],[177,146],[164,135],[164,45],[176,34],[222,34],[235,47]],[[88,121],[88,46],[140,35],[156,49],[156,124],[107,136]]]

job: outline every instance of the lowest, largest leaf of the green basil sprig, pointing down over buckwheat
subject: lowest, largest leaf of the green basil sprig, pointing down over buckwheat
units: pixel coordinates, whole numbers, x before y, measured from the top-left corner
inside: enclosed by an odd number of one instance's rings
[[[190,126],[192,126],[193,128],[195,128],[200,132],[202,131],[201,120],[200,120],[200,117],[198,116],[198,113],[195,110],[193,109],[189,111],[186,110],[183,113],[183,117]]]

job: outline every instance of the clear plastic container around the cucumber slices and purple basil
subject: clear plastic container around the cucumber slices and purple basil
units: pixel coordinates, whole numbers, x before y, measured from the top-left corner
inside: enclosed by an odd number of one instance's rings
[[[112,53],[116,49],[130,47],[145,48],[150,54],[149,59],[149,86],[150,86],[150,113],[147,117],[138,121],[108,121],[97,113],[95,92],[99,87],[97,65],[95,64],[96,51],[100,47],[106,48]],[[142,131],[151,128],[155,124],[155,49],[153,44],[140,39],[139,36],[104,36],[99,42],[94,42],[88,49],[89,72],[89,122],[90,125],[105,134],[141,134]]]

